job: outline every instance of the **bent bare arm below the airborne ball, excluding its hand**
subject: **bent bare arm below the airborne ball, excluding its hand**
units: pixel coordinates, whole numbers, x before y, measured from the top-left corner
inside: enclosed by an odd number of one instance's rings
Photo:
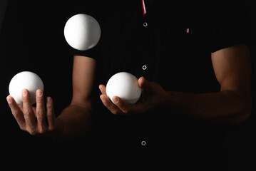
[[[91,91],[96,61],[84,56],[73,58],[73,98],[58,116],[61,137],[79,138],[91,127]]]

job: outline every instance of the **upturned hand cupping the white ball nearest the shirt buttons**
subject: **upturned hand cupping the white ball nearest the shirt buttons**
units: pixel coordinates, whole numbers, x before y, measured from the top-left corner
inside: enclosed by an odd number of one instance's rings
[[[112,103],[111,100],[106,95],[106,86],[100,85],[99,89],[101,90],[101,101],[103,105],[115,115],[133,115],[136,113],[145,113],[146,111],[157,108],[160,105],[164,105],[165,97],[167,93],[163,88],[154,82],[149,82],[145,78],[140,77],[138,79],[138,85],[142,89],[140,99],[135,104],[129,104],[124,102],[118,96],[113,97]]]

